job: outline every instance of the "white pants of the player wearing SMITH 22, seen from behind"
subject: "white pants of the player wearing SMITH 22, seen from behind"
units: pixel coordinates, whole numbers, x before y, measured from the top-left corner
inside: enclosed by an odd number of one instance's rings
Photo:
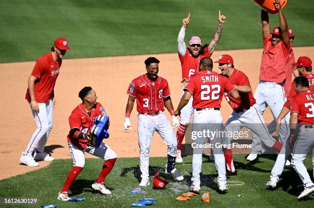
[[[192,131],[195,132],[202,132],[205,128],[205,130],[209,131],[217,131],[217,127],[222,129],[222,116],[220,110],[199,110],[194,111],[194,117],[193,117],[193,127]],[[213,125],[208,125],[213,124]],[[217,124],[217,125],[214,125]],[[211,144],[219,144],[222,143],[220,141],[221,138],[211,138]],[[194,142],[198,145],[205,144],[207,140],[207,137],[198,137],[194,140]],[[193,144],[192,144],[193,145]],[[193,147],[193,146],[192,146]],[[215,165],[218,171],[218,182],[220,184],[225,184],[227,182],[226,177],[226,166],[225,166],[225,157],[223,155],[223,150],[221,147],[217,147],[213,145],[213,154],[215,158]],[[192,182],[193,185],[200,185],[201,184],[201,178],[200,173],[202,172],[202,153],[203,148],[193,148],[193,160],[192,160]]]

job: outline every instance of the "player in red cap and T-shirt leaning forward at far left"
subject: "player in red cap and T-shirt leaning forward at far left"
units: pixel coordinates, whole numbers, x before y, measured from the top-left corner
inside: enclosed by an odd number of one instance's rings
[[[36,61],[27,80],[28,89],[25,98],[37,125],[25,151],[19,158],[21,163],[28,166],[38,166],[39,164],[35,160],[54,160],[44,152],[44,148],[52,128],[53,107],[56,105],[53,88],[60,72],[62,58],[68,49],[70,48],[65,38],[56,39],[51,52]],[[32,154],[36,145],[37,149],[33,158]]]

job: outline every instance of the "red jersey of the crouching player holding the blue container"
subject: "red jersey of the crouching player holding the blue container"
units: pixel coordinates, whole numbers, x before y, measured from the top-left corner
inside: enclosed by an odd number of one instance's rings
[[[90,114],[88,114],[84,108],[83,103],[81,103],[76,108],[74,108],[71,115],[69,116],[70,128],[78,128],[81,132],[88,133],[95,122],[94,119],[99,115],[107,116],[102,104],[96,103],[96,105],[90,110]],[[70,134],[68,134],[67,138],[69,142],[78,148],[85,149],[87,147],[87,144],[77,141],[77,139],[71,137]]]

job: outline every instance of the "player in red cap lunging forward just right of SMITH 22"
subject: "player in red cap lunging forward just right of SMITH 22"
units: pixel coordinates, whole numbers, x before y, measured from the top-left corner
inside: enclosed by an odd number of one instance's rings
[[[234,68],[233,59],[228,54],[221,55],[215,63],[219,63],[218,68],[221,70],[221,74],[227,77],[240,94],[240,98],[235,99],[225,92],[225,98],[233,109],[231,116],[226,122],[225,130],[228,133],[238,133],[243,126],[246,126],[258,135],[264,145],[273,147],[279,152],[282,144],[273,139],[268,133],[265,121],[262,115],[260,115],[259,106],[253,97],[248,77],[242,71]],[[230,144],[231,139],[231,137],[228,138],[228,144]],[[229,174],[235,175],[237,172],[233,165],[231,148],[223,148],[223,151],[227,171]]]

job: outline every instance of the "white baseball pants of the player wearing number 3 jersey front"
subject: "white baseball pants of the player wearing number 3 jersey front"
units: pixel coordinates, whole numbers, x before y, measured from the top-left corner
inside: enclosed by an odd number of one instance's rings
[[[145,178],[149,176],[149,150],[154,132],[157,131],[166,143],[168,147],[167,155],[176,157],[176,146],[178,144],[173,128],[164,112],[156,116],[139,114],[138,119],[141,178]]]

